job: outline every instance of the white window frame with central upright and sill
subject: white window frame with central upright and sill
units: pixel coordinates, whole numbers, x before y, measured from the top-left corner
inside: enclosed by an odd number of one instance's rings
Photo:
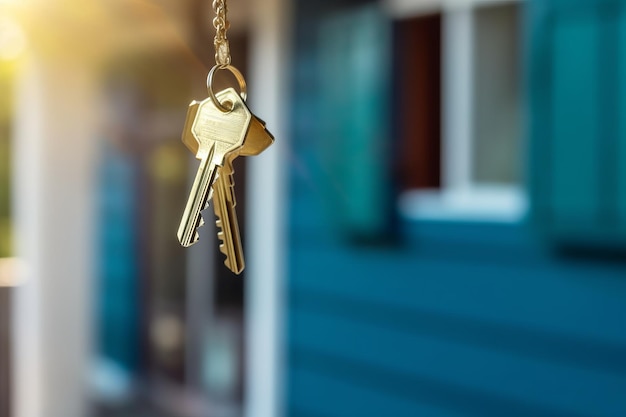
[[[441,12],[442,25],[442,188],[409,190],[401,214],[416,220],[519,222],[527,212],[520,185],[477,183],[474,163],[473,41],[475,9],[522,0],[386,0],[394,18]]]

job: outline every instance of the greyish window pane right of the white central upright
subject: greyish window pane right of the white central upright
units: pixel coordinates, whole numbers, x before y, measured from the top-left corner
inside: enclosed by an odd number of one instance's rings
[[[514,4],[475,12],[472,179],[477,183],[520,182],[519,12]]]

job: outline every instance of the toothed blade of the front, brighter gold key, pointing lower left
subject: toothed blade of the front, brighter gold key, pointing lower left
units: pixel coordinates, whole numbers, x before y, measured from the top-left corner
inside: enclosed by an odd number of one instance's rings
[[[213,149],[209,155],[205,156],[200,162],[200,168],[194,179],[185,211],[178,226],[178,241],[183,247],[189,247],[198,241],[198,227],[204,221],[201,216],[202,209],[206,206],[211,198],[211,186],[215,182],[216,165],[212,161]]]

